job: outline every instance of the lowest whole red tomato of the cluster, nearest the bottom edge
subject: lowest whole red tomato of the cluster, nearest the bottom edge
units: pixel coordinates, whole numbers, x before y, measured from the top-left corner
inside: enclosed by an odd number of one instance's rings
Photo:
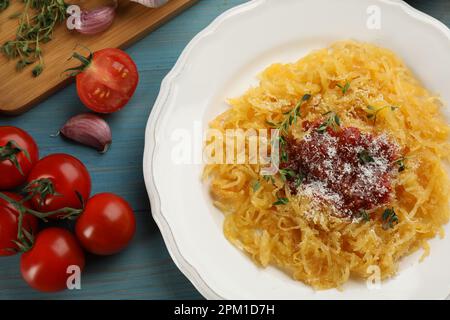
[[[69,267],[82,271],[84,263],[83,250],[69,231],[48,228],[38,234],[33,248],[22,254],[20,271],[32,288],[54,292],[67,288]]]

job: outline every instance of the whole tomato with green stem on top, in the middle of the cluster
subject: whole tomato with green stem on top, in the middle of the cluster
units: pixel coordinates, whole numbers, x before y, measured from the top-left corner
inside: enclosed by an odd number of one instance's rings
[[[84,164],[68,154],[52,154],[39,160],[28,176],[33,209],[50,212],[65,207],[81,209],[91,194],[91,177]],[[39,183],[37,181],[40,181]]]

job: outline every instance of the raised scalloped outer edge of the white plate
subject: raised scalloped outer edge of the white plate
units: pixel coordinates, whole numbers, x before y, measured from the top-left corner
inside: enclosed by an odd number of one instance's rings
[[[186,63],[188,61],[189,55],[192,49],[199,44],[204,38],[213,34],[219,27],[220,24],[237,14],[242,13],[245,10],[254,9],[258,6],[264,5],[267,2],[274,0],[250,0],[246,3],[240,4],[233,8],[230,8],[220,14],[215,18],[207,27],[200,31],[185,47],[182,51],[180,57],[176,61],[174,67],[169,71],[169,73],[164,77],[158,97],[151,110],[146,129],[145,129],[145,147],[143,156],[143,173],[145,186],[147,188],[147,193],[151,204],[152,216],[161,231],[163,240],[168,249],[169,255],[178,267],[178,269],[188,278],[188,280],[194,285],[194,287],[200,292],[200,294],[206,299],[219,300],[225,299],[216,293],[213,289],[208,286],[208,283],[199,272],[192,266],[187,259],[183,256],[182,252],[178,248],[175,237],[172,233],[169,223],[164,217],[164,213],[161,211],[161,201],[160,195],[153,179],[153,159],[155,152],[158,148],[156,139],[156,123],[160,118],[162,112],[164,111],[164,105],[166,101],[173,94],[172,88],[177,79],[177,77],[182,74]],[[426,23],[433,26],[436,31],[441,32],[450,41],[450,29],[438,19],[412,7],[403,0],[374,0],[375,2],[380,2],[393,6],[400,6],[403,12],[410,17],[416,19],[418,23]],[[450,297],[450,296],[449,296]],[[446,297],[443,297],[443,299]],[[448,297],[447,297],[448,298]]]

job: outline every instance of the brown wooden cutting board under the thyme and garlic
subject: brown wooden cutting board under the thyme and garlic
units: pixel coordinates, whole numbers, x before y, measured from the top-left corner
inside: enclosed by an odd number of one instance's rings
[[[86,36],[69,31],[62,23],[55,30],[53,40],[43,45],[45,69],[37,78],[31,75],[33,66],[16,71],[17,60],[8,61],[0,54],[0,114],[18,115],[70,83],[72,79],[62,76],[76,62],[67,62],[76,45],[96,51],[103,48],[125,48],[139,40],[177,13],[197,0],[169,0],[156,9],[146,8],[128,0],[119,0],[113,25],[105,32]],[[11,6],[0,12],[0,44],[14,38],[17,19],[9,17],[23,10],[21,1],[11,1]],[[82,8],[95,7],[102,3],[96,0],[68,1]]]

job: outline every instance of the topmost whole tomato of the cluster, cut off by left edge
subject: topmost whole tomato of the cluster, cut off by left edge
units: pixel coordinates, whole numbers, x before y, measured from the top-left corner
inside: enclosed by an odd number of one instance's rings
[[[38,147],[28,133],[16,127],[0,127],[0,190],[23,184],[38,160]]]

